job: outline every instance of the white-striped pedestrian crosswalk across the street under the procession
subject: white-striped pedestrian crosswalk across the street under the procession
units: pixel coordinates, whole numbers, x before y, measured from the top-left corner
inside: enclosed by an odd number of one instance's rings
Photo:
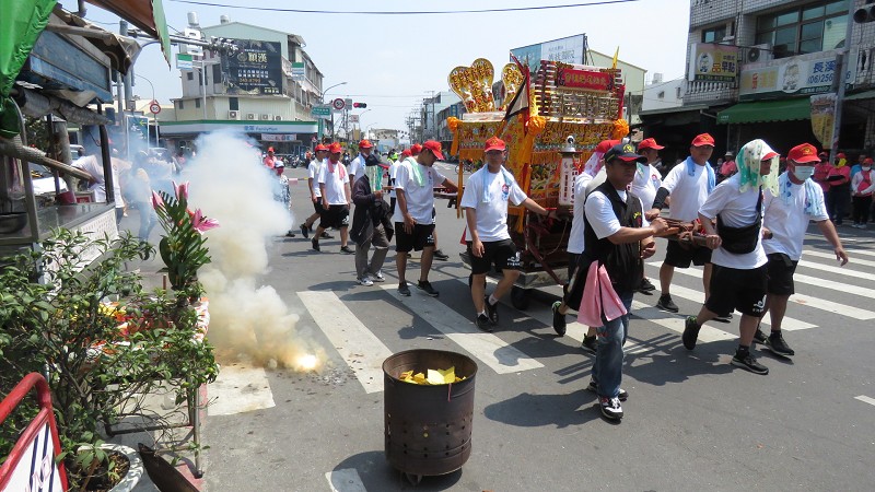
[[[848,324],[862,323],[875,319],[875,308],[867,302],[875,298],[875,290],[868,289],[871,280],[875,276],[871,272],[871,267],[875,266],[875,260],[865,258],[875,256],[875,251],[854,248],[849,251],[851,262],[844,267],[835,266],[835,255],[829,251],[806,249],[804,259],[800,262],[795,274],[796,291],[791,297],[791,305],[783,320],[782,328],[788,331],[813,330],[821,328],[835,328],[836,326],[847,326]],[[646,273],[651,279],[657,278],[657,270],[661,261],[649,261]],[[830,276],[832,279],[822,278]],[[629,343],[626,347],[628,354],[649,353],[654,350],[668,350],[680,344],[679,333],[684,331],[684,319],[686,315],[695,315],[704,301],[701,285],[701,268],[676,269],[672,295],[676,303],[681,307],[680,314],[665,313],[656,307],[656,295],[637,296],[632,303],[632,321]],[[835,279],[840,280],[835,280]],[[466,289],[467,278],[458,279],[459,289]],[[490,288],[491,290],[491,288]],[[537,355],[526,353],[526,343],[514,344],[509,342],[506,337],[499,330],[494,333],[482,332],[477,329],[469,316],[471,306],[465,298],[462,305],[448,305],[441,298],[421,295],[415,292],[412,296],[400,296],[397,293],[397,285],[393,282],[382,284],[382,301],[402,306],[410,315],[417,317],[431,330],[442,333],[445,339],[455,344],[459,351],[469,354],[478,364],[481,371],[489,370],[498,375],[522,373],[526,371],[545,367],[545,361]],[[555,293],[559,295],[559,289]],[[658,294],[658,291],[656,292]],[[359,319],[355,313],[350,311],[342,294],[339,296],[334,291],[301,291],[296,293],[298,298],[306,309],[312,323],[324,333],[336,351],[337,355],[343,361],[349,370],[354,373],[357,379],[365,393],[380,393],[383,390],[382,363],[393,354],[388,347],[397,348],[398,340],[383,341],[369,328],[364,320]],[[459,303],[457,303],[459,304]],[[535,321],[544,327],[545,333],[552,333],[552,314],[549,303],[533,302],[526,312],[513,309],[510,303],[502,306],[502,325],[512,326],[515,323]],[[512,312],[512,314],[511,314]],[[736,316],[737,319],[737,316]],[[642,341],[635,337],[641,332],[640,323],[648,323],[664,328],[664,337],[651,338]],[[769,325],[769,317],[762,320],[765,326]],[[557,339],[560,343],[579,344],[587,330],[587,327],[576,323],[569,317],[568,331],[565,337]],[[512,329],[506,330],[509,333]],[[394,332],[394,330],[383,331]],[[383,335],[385,337],[385,335]],[[736,340],[738,337],[737,320],[727,325],[709,324],[702,327],[699,333],[699,344]],[[654,340],[658,339],[658,347],[655,348]],[[539,353],[539,352],[537,352]],[[243,371],[243,372],[242,372]],[[231,386],[240,387],[241,384],[235,378],[242,377],[245,371],[231,371]],[[246,373],[248,374],[248,373]],[[244,374],[245,375],[245,374]],[[220,379],[224,378],[224,373]],[[262,374],[257,378],[260,384],[266,384]],[[264,408],[272,406],[272,401],[265,400]],[[217,409],[211,413],[226,414],[235,410]]]

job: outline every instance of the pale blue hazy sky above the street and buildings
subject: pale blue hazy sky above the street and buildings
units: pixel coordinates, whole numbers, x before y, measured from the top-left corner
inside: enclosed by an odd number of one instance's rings
[[[447,91],[446,77],[458,66],[486,58],[500,68],[512,48],[584,33],[591,49],[611,55],[654,72],[664,80],[684,75],[689,25],[689,0],[620,0],[620,3],[540,9],[517,12],[441,13],[389,15],[328,14],[256,11],[246,8],[280,8],[332,12],[422,12],[513,9],[594,3],[594,0],[203,0],[232,7],[208,7],[180,0],[163,0],[171,33],[184,30],[187,12],[198,13],[201,26],[232,22],[260,25],[304,38],[304,48],[325,79],[323,89],[346,85],[326,94],[368,104],[361,113],[362,128],[406,130],[406,118],[423,97]],[[610,1],[610,0],[608,0]],[[616,0],[615,0],[616,1]],[[77,10],[75,0],[59,3]],[[118,17],[89,3],[85,19],[118,31]],[[174,47],[174,54],[176,48]],[[173,58],[171,58],[173,60]],[[179,71],[170,68],[158,44],[143,48],[135,72],[152,82],[155,98],[171,104],[182,95]],[[500,75],[498,75],[500,78]],[[152,89],[135,78],[135,94],[152,97]]]

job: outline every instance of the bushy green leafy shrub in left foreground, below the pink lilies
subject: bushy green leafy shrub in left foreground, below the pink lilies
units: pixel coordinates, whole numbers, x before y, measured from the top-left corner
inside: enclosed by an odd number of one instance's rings
[[[214,380],[218,366],[197,313],[162,290],[143,291],[139,274],[126,271],[151,246],[130,234],[92,239],[65,230],[42,246],[5,259],[0,271],[0,388],[5,394],[31,372],[46,375],[72,489],[106,461],[94,450],[98,429],[139,409],[166,382],[182,402]],[[86,248],[100,259],[86,265]],[[0,432],[0,456],[12,440],[14,429]]]

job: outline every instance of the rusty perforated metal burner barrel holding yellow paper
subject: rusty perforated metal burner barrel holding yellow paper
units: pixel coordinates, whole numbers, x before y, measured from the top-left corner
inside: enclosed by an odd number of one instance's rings
[[[398,377],[405,371],[456,367],[465,380],[416,385]],[[410,476],[456,471],[471,454],[474,379],[477,363],[442,350],[408,350],[383,362],[386,459]]]

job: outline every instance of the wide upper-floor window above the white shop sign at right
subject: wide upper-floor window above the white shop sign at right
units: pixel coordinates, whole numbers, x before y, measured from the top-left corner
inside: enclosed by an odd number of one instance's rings
[[[817,2],[757,19],[756,44],[772,46],[774,58],[844,46],[848,1]]]

